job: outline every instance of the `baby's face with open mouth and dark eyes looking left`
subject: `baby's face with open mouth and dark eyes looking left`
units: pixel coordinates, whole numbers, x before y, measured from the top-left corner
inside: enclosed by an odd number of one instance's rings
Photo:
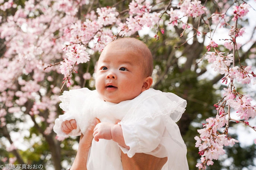
[[[96,89],[105,101],[132,100],[142,92],[145,79],[141,56],[112,46],[107,46],[100,55]]]

